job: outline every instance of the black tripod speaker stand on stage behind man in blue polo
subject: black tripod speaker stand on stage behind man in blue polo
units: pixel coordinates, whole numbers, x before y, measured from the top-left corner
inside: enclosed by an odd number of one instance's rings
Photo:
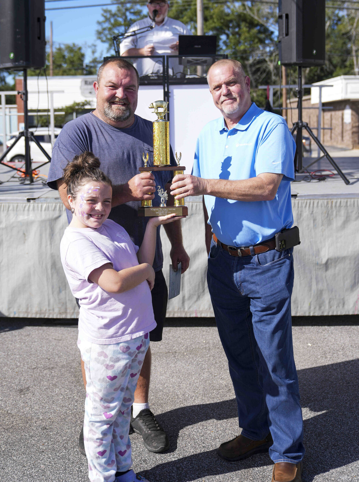
[[[310,129],[308,126],[308,122],[303,122],[303,87],[302,87],[302,67],[298,66],[298,121],[293,124],[293,127],[291,129],[291,134],[294,134],[296,131],[296,149],[295,149],[295,157],[294,157],[294,166],[295,166],[295,172],[298,174],[302,174],[304,172],[308,173],[308,167],[312,166],[316,162],[320,161],[324,157],[327,158],[327,160],[332,164],[333,168],[335,171],[340,175],[340,177],[343,179],[343,181],[346,184],[350,184],[350,181],[346,178],[346,176],[343,174],[341,169],[338,167],[338,165],[335,163],[333,158],[329,155],[328,151],[325,149],[325,147],[321,144],[321,141],[316,137],[313,133],[313,131]],[[315,161],[310,162],[307,166],[303,167],[303,129],[305,129],[310,137],[313,139],[313,141],[317,144],[317,146],[321,149],[321,152],[323,155],[316,159]],[[300,179],[295,179],[295,181],[300,181]]]

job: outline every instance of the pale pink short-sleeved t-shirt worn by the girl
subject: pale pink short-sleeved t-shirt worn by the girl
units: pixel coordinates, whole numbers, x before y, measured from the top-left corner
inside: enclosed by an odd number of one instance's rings
[[[61,262],[72,294],[79,299],[79,335],[110,345],[144,335],[156,326],[147,281],[124,293],[108,293],[89,280],[106,263],[116,271],[138,266],[139,248],[119,224],[106,219],[100,228],[65,229]]]

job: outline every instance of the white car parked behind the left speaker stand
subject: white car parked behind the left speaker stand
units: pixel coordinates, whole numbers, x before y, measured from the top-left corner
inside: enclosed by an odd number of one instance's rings
[[[41,147],[51,156],[52,146],[51,146],[51,134],[47,127],[38,127],[29,129],[34,133],[35,139],[41,144]],[[55,128],[55,139],[60,134],[61,129]],[[19,135],[19,131],[10,134],[10,139],[6,143],[6,148],[10,147],[16,137]],[[45,155],[40,151],[38,146],[34,141],[30,139],[30,156],[33,162],[46,162],[47,159]],[[15,146],[6,156],[7,162],[25,162],[25,137],[21,137]]]

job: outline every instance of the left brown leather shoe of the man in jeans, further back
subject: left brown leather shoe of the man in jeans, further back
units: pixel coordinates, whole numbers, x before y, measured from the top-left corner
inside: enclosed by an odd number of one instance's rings
[[[272,444],[273,439],[270,433],[264,440],[251,440],[244,437],[244,435],[238,435],[238,437],[229,442],[221,443],[217,449],[217,454],[225,460],[235,462],[254,454],[268,452]]]

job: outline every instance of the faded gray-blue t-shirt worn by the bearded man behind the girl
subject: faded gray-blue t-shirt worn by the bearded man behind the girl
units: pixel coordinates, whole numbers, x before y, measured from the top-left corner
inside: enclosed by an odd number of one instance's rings
[[[64,125],[52,149],[51,166],[47,184],[57,189],[57,181],[62,178],[64,167],[69,160],[84,151],[93,152],[101,162],[101,170],[108,175],[114,186],[124,185],[129,179],[139,174],[143,166],[142,153],[148,153],[148,165],[153,165],[153,128],[152,122],[134,116],[130,127],[119,129],[102,119],[93,112],[78,117]],[[171,150],[171,164],[176,165]],[[165,188],[171,180],[169,171],[154,173],[154,185]],[[153,182],[153,181],[152,181]],[[149,191],[153,191],[150,188]],[[154,197],[154,206],[160,205],[158,195]],[[149,218],[139,217],[137,210],[141,201],[130,199],[126,204],[115,205],[109,218],[126,229],[132,241],[141,246],[146,224]],[[71,221],[71,211],[67,210],[67,220]],[[157,228],[156,252],[154,257],[154,271],[160,271],[163,264],[160,227]]]

